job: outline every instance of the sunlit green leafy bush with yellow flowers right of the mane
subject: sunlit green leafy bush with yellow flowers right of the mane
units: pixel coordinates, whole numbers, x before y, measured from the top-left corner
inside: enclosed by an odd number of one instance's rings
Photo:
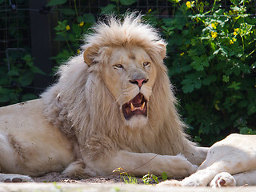
[[[218,1],[210,9],[207,2],[174,3],[174,18],[160,27],[190,134],[203,145],[232,132],[254,134],[256,19],[246,1],[233,0],[226,9]]]

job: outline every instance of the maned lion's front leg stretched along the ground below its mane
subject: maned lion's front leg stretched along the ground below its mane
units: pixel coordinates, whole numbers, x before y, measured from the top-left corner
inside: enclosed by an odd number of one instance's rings
[[[193,174],[197,166],[192,165],[182,155],[158,155],[152,153],[133,153],[119,150],[116,155],[86,162],[86,169],[95,170],[94,174],[110,175],[121,167],[123,171],[136,176],[144,174],[161,175],[166,172],[171,178],[184,178]]]

